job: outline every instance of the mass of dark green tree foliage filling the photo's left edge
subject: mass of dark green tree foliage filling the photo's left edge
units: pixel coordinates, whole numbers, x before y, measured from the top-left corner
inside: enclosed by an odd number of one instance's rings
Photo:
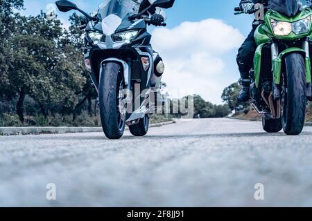
[[[44,117],[55,111],[76,112],[84,97],[96,98],[83,64],[83,32],[78,29],[83,17],[73,15],[67,31],[44,13],[13,14],[22,9],[22,0],[0,0],[0,6],[0,98],[18,99],[22,121],[26,95]]]

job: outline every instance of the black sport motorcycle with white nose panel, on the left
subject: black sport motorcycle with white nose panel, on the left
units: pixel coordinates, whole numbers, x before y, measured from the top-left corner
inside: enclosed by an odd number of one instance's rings
[[[85,29],[85,66],[99,95],[101,122],[105,135],[119,139],[125,125],[135,136],[148,132],[150,104],[155,96],[150,83],[153,77],[153,48],[147,32],[151,7],[171,8],[173,1],[157,0],[135,15],[137,3],[132,0],[108,0],[94,17],[70,1],[57,1],[62,12],[78,10],[87,18]],[[162,26],[166,26],[163,23]]]

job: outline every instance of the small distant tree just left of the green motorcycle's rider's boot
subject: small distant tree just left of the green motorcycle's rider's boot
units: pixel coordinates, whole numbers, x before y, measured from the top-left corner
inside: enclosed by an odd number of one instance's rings
[[[231,111],[241,111],[249,106],[247,102],[239,102],[237,100],[237,97],[239,97],[239,90],[241,90],[241,86],[239,86],[238,83],[231,84],[223,90],[223,102],[228,104]]]

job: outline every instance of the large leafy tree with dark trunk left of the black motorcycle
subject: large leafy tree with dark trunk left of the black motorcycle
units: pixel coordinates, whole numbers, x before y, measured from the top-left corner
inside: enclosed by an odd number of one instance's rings
[[[12,59],[8,81],[17,93],[17,114],[24,121],[24,99],[30,95],[40,104],[44,116],[56,108],[73,109],[83,90],[85,77],[77,64],[76,48],[63,35],[59,20],[17,15],[11,40]]]

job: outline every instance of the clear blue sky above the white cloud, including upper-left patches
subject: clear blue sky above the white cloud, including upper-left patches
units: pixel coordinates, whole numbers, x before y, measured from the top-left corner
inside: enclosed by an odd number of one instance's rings
[[[37,15],[40,10],[46,10],[48,3],[54,3],[51,0],[24,0],[26,11],[25,15]],[[101,0],[73,0],[78,7],[86,12],[92,12],[97,9]],[[196,2],[196,3],[194,3]],[[166,10],[168,15],[168,28],[179,25],[182,21],[200,21],[202,19],[214,18],[222,19],[235,28],[239,28],[244,35],[250,31],[252,16],[236,15],[234,16],[234,7],[238,6],[239,0],[175,0],[175,6]],[[71,12],[59,14],[66,19]]]

